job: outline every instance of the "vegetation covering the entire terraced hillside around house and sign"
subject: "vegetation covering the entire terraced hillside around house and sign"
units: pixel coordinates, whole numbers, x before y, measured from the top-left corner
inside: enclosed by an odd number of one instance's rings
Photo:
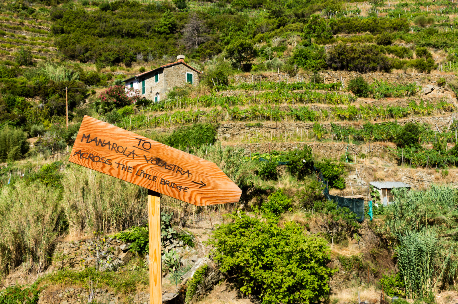
[[[437,293],[456,291],[452,185],[393,190],[394,202],[385,207],[367,185],[351,188],[379,204],[369,221],[366,202],[360,223],[325,199],[316,174],[321,171],[333,194],[348,195],[347,176],[376,155],[329,158],[300,144],[343,143],[348,150],[375,142],[388,147],[392,163],[385,168],[432,168],[447,177],[458,158],[458,123],[450,117],[456,104],[445,95],[430,98],[424,87],[458,93],[457,14],[457,2],[446,0],[1,3],[0,282],[19,268],[38,280],[0,291],[0,303],[37,303],[47,284],[92,288],[98,282],[124,296],[148,285],[147,191],[68,163],[67,147],[84,115],[212,161],[242,189],[240,202],[227,206],[196,207],[163,196],[161,238],[208,250],[243,297],[264,304],[353,303],[356,295],[347,299],[343,290],[359,288],[372,295],[383,290],[402,298],[399,304],[433,304]],[[169,88],[158,103],[125,92],[123,79],[178,54],[204,71],[198,85]],[[323,71],[361,74],[325,81]],[[365,73],[375,73],[373,80]],[[384,73],[398,78],[384,81]],[[414,82],[403,81],[405,73],[424,74]],[[437,117],[445,125],[426,119]],[[247,131],[218,136],[222,126]],[[265,143],[298,149],[244,149]],[[378,156],[377,165],[384,162]],[[186,230],[185,215],[217,213],[224,220],[210,224],[207,242]],[[135,258],[128,266],[43,275],[56,242],[100,244],[104,237],[131,243]],[[189,270],[165,247],[162,263],[174,285]],[[180,291],[185,303],[205,271]],[[340,289],[332,289],[342,275]]]

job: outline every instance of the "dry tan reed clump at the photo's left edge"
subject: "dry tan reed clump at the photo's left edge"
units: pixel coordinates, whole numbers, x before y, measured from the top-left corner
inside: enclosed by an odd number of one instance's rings
[[[19,179],[0,193],[0,274],[26,262],[42,271],[50,262],[52,243],[63,232],[60,190]]]

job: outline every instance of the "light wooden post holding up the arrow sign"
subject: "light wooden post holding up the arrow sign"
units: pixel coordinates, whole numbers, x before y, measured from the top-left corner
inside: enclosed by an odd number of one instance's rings
[[[161,204],[160,194],[148,190],[149,300],[162,304]]]

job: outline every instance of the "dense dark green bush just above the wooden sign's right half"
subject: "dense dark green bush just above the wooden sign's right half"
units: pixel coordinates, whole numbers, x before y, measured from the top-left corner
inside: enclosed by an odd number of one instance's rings
[[[188,149],[212,145],[216,141],[216,127],[211,124],[194,124],[178,127],[167,138],[165,144],[177,149]]]

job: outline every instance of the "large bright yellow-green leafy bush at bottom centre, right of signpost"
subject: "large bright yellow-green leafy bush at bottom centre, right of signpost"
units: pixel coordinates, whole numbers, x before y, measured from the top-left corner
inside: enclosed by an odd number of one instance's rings
[[[327,267],[327,242],[309,237],[300,225],[261,221],[244,212],[229,215],[233,223],[219,226],[209,244],[221,271],[245,294],[262,303],[310,304],[326,297],[327,281],[335,270]]]

